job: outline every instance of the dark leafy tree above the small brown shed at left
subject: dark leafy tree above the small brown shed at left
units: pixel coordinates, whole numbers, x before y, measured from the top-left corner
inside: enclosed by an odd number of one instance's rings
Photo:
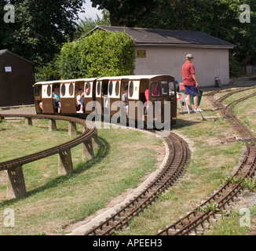
[[[3,6],[0,2],[0,8]],[[15,23],[2,23],[2,48],[42,66],[73,38],[75,20],[85,0],[12,0]]]

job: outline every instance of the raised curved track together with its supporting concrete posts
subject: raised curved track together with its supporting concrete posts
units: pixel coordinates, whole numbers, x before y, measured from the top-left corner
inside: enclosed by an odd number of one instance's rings
[[[9,161],[0,162],[0,171],[7,170],[7,198],[21,198],[27,195],[27,190],[24,182],[24,173],[22,166],[29,162],[35,162],[39,159],[59,154],[58,158],[58,173],[67,174],[73,173],[73,164],[71,158],[71,148],[82,144],[82,158],[94,158],[93,145],[97,144],[97,128],[93,123],[86,122],[80,118],[71,118],[59,115],[1,115],[0,118],[18,117],[25,118],[25,124],[32,126],[33,119],[49,119],[49,131],[57,130],[56,120],[69,122],[68,135],[75,135],[76,124],[83,126],[82,134],[73,140],[69,140],[64,144],[56,147],[51,147],[44,151],[39,151],[35,154],[26,155],[24,157],[15,158]]]

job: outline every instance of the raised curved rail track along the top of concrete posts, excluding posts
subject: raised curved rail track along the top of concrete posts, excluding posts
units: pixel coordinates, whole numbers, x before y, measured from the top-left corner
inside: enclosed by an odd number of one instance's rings
[[[56,147],[51,147],[49,149],[46,149],[44,151],[37,152],[32,155],[27,155],[21,158],[15,158],[9,161],[1,162],[0,163],[0,170],[4,169],[11,169],[13,166],[22,166],[29,162],[34,162],[41,158],[49,157],[50,155],[55,155],[59,153],[60,151],[66,151],[70,149],[71,147],[75,147],[79,144],[82,144],[85,140],[89,139],[91,136],[93,136],[94,133],[97,133],[97,129],[95,126],[92,126],[88,124],[85,120],[79,119],[79,118],[71,118],[71,117],[65,117],[65,116],[59,116],[59,115],[1,115],[2,117],[19,117],[19,118],[35,118],[35,119],[56,119],[56,120],[64,120],[68,122],[75,122],[82,124],[84,126],[84,132],[77,136],[74,140],[70,140],[64,144],[60,144]]]

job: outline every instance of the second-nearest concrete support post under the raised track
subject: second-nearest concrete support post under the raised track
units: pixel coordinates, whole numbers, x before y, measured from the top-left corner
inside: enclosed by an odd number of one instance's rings
[[[58,158],[58,174],[73,173],[71,150],[60,151]]]

